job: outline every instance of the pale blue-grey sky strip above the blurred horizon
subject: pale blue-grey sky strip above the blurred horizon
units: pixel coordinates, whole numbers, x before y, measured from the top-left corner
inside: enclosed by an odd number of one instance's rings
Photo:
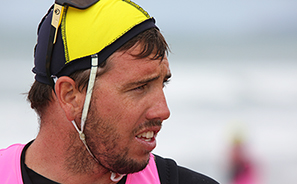
[[[247,31],[249,29],[295,29],[294,0],[136,0],[162,29],[175,31]],[[3,1],[1,27],[36,29],[52,0]],[[173,30],[171,30],[173,29]]]

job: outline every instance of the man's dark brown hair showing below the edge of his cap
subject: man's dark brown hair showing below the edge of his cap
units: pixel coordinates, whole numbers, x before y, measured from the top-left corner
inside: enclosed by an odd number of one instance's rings
[[[138,53],[137,55],[133,55],[136,58],[146,58],[151,54],[154,54],[154,56],[151,58],[152,60],[162,60],[169,52],[168,44],[157,28],[150,28],[138,34],[127,43],[125,43],[122,47],[120,47],[117,51],[127,51],[135,44],[139,44],[142,47],[140,53]],[[107,64],[105,61],[100,67],[107,67],[106,65]],[[76,87],[80,91],[86,89],[88,85],[89,71],[89,69],[79,70],[69,76],[75,81]],[[35,81],[31,86],[27,99],[31,103],[31,108],[34,109],[40,117],[48,107],[49,103],[53,100],[52,90],[53,89],[50,85],[43,84],[38,81]]]

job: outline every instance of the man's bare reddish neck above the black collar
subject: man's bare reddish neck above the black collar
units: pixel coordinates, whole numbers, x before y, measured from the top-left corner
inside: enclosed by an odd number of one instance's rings
[[[79,138],[67,136],[67,131],[55,133],[44,134],[41,130],[29,146],[25,163],[30,169],[63,184],[115,183],[110,180],[110,171],[88,154]]]

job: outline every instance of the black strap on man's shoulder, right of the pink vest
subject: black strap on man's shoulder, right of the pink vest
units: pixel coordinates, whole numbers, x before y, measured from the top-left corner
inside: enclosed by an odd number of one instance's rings
[[[178,167],[175,161],[155,155],[161,184],[178,184]]]

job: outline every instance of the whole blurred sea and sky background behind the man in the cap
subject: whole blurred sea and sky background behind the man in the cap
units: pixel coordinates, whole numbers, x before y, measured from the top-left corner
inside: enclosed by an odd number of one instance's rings
[[[297,1],[135,2],[156,18],[172,51],[171,117],[154,152],[221,183],[295,183]],[[1,148],[38,132],[25,93],[37,25],[52,3],[1,3]]]

